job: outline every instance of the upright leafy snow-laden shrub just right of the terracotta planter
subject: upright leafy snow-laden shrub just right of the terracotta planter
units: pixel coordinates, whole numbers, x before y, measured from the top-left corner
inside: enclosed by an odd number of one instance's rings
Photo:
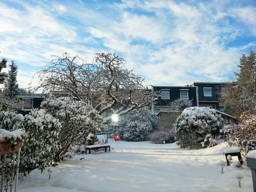
[[[61,148],[59,120],[43,109],[33,109],[25,116],[23,127],[26,140],[21,150],[20,171],[26,175],[31,170],[43,171],[45,167],[55,165],[55,155]]]

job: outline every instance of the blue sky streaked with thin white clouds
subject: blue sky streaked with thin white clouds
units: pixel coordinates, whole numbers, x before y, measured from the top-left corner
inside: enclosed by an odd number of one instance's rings
[[[64,52],[117,53],[145,85],[222,82],[256,49],[256,1],[2,0],[0,26],[0,59],[17,63],[20,87]]]

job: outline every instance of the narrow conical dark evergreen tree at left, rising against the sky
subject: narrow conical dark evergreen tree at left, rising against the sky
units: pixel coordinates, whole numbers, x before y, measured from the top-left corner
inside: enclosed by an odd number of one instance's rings
[[[12,64],[10,65],[9,76],[5,82],[5,96],[8,99],[15,99],[15,97],[19,94],[17,73],[18,67],[14,61],[12,61]]]

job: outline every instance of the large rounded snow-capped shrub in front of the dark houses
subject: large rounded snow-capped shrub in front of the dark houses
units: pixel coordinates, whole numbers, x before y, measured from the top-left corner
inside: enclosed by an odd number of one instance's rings
[[[175,140],[181,148],[197,148],[207,134],[211,134],[213,139],[219,137],[222,125],[222,118],[215,109],[189,107],[177,118]]]

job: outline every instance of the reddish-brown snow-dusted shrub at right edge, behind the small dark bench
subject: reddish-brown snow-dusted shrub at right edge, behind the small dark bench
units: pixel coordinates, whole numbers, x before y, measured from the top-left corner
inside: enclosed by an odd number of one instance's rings
[[[226,126],[223,132],[230,146],[237,146],[243,159],[250,150],[256,149],[256,110],[245,111],[238,125]]]

